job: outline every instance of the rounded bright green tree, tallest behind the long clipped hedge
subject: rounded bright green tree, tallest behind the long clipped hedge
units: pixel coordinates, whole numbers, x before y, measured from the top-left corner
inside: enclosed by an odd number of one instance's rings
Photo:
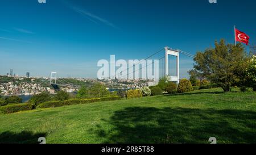
[[[101,98],[101,97],[109,97],[110,93],[106,89],[106,86],[101,84],[100,82],[96,82],[90,88],[90,97]]]

